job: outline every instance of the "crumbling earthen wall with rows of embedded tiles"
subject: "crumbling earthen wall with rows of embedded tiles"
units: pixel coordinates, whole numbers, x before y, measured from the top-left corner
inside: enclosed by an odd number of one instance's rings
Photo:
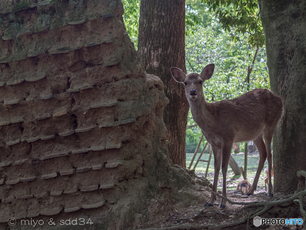
[[[118,0],[0,2],[0,229],[123,229],[152,194],[190,185],[122,14]]]

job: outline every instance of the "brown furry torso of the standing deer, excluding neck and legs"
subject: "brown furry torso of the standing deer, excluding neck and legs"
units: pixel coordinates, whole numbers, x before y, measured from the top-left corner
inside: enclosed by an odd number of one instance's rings
[[[255,140],[265,128],[274,129],[282,116],[281,98],[266,89],[255,89],[210,106],[214,125],[202,130],[207,138],[214,137],[212,141],[222,139],[216,137],[224,133],[234,136],[235,142]]]

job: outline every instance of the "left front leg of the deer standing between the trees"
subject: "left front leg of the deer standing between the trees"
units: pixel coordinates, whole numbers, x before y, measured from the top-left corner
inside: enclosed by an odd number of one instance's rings
[[[213,145],[211,145],[212,151],[214,153],[214,159],[215,159],[215,176],[214,176],[214,183],[212,186],[212,191],[210,199],[206,202],[204,205],[205,207],[207,206],[212,206],[214,204],[214,201],[216,199],[216,193],[217,193],[217,185],[218,185],[218,178],[219,178],[219,172],[221,168],[221,161],[222,161],[222,152],[221,148],[217,148]]]

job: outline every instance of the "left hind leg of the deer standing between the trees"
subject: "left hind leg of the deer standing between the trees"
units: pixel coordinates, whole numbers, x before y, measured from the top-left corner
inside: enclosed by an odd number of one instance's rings
[[[258,163],[258,168],[257,168],[257,171],[256,171],[256,175],[255,175],[255,178],[254,178],[254,182],[252,184],[252,187],[250,188],[250,190],[246,194],[247,196],[254,194],[254,191],[257,188],[257,183],[258,183],[258,180],[259,180],[260,173],[263,170],[263,166],[264,166],[265,161],[267,159],[267,150],[266,150],[266,145],[263,142],[263,135],[260,134],[253,141],[254,141],[254,144],[256,145],[256,147],[259,151],[259,163]]]

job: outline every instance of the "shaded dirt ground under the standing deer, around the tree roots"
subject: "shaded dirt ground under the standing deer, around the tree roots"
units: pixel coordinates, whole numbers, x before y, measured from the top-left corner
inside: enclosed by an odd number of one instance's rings
[[[218,182],[219,183],[219,182]],[[200,184],[196,183],[196,193],[199,195],[207,196],[209,197],[211,194],[211,189],[208,187],[204,187]],[[218,191],[218,194],[221,195],[222,191]],[[227,198],[229,198],[232,201],[236,202],[263,202],[263,201],[275,201],[275,200],[282,200],[291,197],[293,194],[283,194],[283,193],[274,193],[273,197],[267,197],[267,193],[265,192],[264,187],[258,187],[255,191],[253,196],[246,197],[244,196],[241,191],[237,190],[227,190]],[[200,225],[219,225],[219,224],[225,224],[228,222],[235,222],[238,220],[242,220],[246,213],[250,211],[254,211],[255,209],[244,209],[243,211],[236,213],[239,209],[241,209],[244,205],[233,205],[229,204],[229,202],[226,203],[226,208],[220,209],[221,198],[217,197],[213,209],[207,208],[204,209],[205,202],[194,202],[194,204],[188,206],[188,207],[179,207],[175,201],[171,205],[167,205],[166,207],[162,207],[163,212],[157,212],[157,214],[154,217],[147,218],[144,215],[144,218],[141,218],[139,223],[136,225],[137,229],[206,229],[204,227],[200,227]],[[154,207],[158,206],[159,203],[159,197],[152,198],[150,201],[148,201],[148,207],[151,209],[154,209]],[[282,210],[281,210],[282,209]],[[284,210],[287,209],[287,210]],[[288,216],[290,214],[284,214],[284,213],[292,213],[289,211],[296,209],[296,216]],[[203,210],[201,212],[201,210]],[[201,212],[201,213],[200,213]],[[221,212],[221,213],[218,213]],[[197,215],[200,213],[200,215]],[[197,215],[197,216],[196,216]],[[274,206],[270,210],[268,210],[267,213],[264,213],[263,215],[260,215],[260,217],[265,218],[302,218],[302,215],[300,214],[299,207],[298,206],[290,206],[287,208],[280,208],[278,206]],[[137,219],[137,218],[136,218]],[[191,227],[195,226],[195,227]],[[218,228],[214,228],[218,229]],[[249,224],[246,222],[237,226],[233,227],[227,227],[222,229],[271,229],[271,230],[294,230],[294,229],[302,229],[303,225],[261,225],[259,227],[255,227],[253,225],[253,219],[249,220]]]

